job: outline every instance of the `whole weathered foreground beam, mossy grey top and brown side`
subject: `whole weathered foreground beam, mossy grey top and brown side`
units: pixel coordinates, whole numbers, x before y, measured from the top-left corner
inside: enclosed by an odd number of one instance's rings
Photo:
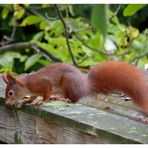
[[[55,101],[20,110],[0,108],[4,142],[8,137],[10,143],[148,143],[147,125],[80,104]]]

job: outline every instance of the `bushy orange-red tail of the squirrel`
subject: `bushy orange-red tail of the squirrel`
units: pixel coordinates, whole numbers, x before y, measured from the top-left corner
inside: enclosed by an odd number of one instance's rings
[[[93,67],[88,77],[93,92],[108,94],[122,91],[144,112],[148,112],[148,85],[136,67],[110,61]]]

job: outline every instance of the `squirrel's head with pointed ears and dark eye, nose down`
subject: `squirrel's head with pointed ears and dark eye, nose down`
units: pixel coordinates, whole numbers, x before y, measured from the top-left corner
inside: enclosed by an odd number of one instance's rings
[[[14,105],[18,100],[22,99],[24,94],[24,84],[11,74],[2,74],[2,78],[6,83],[5,103]]]

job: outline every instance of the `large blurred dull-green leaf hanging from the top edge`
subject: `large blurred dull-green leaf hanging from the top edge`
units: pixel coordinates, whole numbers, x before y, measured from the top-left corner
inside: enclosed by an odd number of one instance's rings
[[[98,4],[93,6],[91,22],[93,26],[103,35],[107,33],[107,5]]]

